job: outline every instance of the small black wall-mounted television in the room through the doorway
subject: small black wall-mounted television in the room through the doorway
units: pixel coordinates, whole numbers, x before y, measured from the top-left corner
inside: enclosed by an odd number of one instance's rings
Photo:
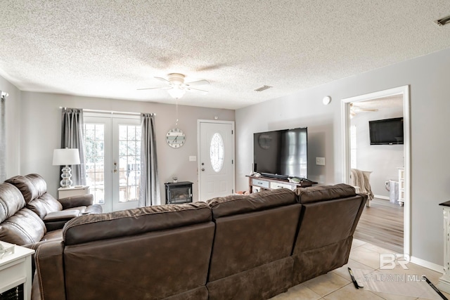
[[[371,145],[403,145],[403,117],[368,122]]]

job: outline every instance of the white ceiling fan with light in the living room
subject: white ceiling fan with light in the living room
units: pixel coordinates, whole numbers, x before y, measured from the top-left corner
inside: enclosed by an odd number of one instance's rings
[[[167,74],[167,79],[162,77],[155,77],[156,79],[164,82],[167,84],[167,86],[155,86],[151,88],[145,88],[145,89],[138,89],[141,90],[148,90],[148,89],[165,89],[167,90],[167,93],[169,93],[172,98],[179,99],[184,96],[184,93],[186,91],[192,91],[192,92],[198,92],[202,94],[208,93],[208,91],[201,90],[201,89],[195,89],[192,86],[200,86],[205,84],[210,84],[210,81],[207,81],[205,79],[197,80],[197,81],[191,81],[184,83],[184,74],[180,73],[170,73]]]

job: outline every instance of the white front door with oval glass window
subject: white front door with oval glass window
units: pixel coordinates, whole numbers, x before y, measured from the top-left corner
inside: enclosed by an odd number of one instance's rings
[[[234,193],[234,122],[198,121],[199,200]]]

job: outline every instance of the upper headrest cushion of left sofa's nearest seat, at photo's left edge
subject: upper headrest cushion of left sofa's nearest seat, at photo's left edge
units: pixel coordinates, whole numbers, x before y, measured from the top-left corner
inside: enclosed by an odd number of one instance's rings
[[[22,193],[10,183],[0,184],[0,223],[25,207]],[[1,240],[1,239],[0,239]]]

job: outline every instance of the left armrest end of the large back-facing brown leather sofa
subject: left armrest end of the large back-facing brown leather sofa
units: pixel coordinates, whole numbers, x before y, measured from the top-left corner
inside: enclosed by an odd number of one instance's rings
[[[39,244],[34,254],[36,263],[36,279],[41,299],[65,299],[63,242],[47,242]],[[32,294],[38,291],[33,290]]]

